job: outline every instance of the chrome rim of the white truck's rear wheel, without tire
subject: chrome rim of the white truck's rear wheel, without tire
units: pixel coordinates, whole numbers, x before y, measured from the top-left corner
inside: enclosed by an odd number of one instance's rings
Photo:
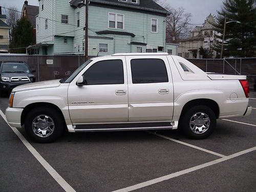
[[[203,112],[196,113],[190,118],[189,127],[196,134],[205,133],[210,127],[210,118]]]

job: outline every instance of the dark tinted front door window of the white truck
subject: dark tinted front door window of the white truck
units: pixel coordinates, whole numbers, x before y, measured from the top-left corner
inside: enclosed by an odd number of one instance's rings
[[[84,74],[90,84],[123,84],[122,60],[102,60],[94,63]]]

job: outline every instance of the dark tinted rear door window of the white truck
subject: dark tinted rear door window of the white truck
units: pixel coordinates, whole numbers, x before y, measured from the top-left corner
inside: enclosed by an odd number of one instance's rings
[[[132,59],[133,83],[168,82],[165,63],[162,59]]]

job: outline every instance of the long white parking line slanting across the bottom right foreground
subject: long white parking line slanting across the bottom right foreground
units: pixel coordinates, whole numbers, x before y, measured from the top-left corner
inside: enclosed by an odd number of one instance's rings
[[[217,163],[221,163],[223,161],[226,161],[226,160],[229,160],[229,159],[247,154],[247,153],[255,151],[255,150],[256,150],[256,146],[254,146],[252,148],[249,148],[248,150],[238,152],[236,154],[232,154],[232,155],[222,157],[222,158],[214,160],[214,161],[210,161],[208,163],[204,163],[204,164],[197,165],[197,166],[194,166],[194,167],[191,167],[191,168],[187,168],[187,169],[181,170],[180,172],[176,172],[176,173],[169,174],[169,175],[166,175],[166,176],[163,176],[163,177],[159,177],[159,178],[156,178],[156,179],[145,181],[145,182],[142,182],[142,183],[139,183],[139,184],[136,184],[136,185],[132,185],[132,186],[125,187],[125,188],[122,188],[122,189],[118,189],[118,190],[115,190],[113,192],[126,192],[126,191],[132,191],[132,190],[136,190],[136,189],[139,189],[139,188],[143,188],[143,187],[153,185],[153,184],[156,184],[156,183],[168,180],[168,179],[172,179],[172,178],[175,178],[175,177],[178,177],[178,176],[190,173],[190,172],[194,172],[195,170],[199,170],[199,169],[202,169],[202,168],[205,168],[205,167],[217,164]]]

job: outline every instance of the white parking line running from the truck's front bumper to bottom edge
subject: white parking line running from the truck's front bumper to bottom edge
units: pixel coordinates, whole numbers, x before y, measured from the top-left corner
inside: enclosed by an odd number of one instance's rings
[[[7,122],[5,114],[0,110],[0,115]],[[9,124],[8,124],[9,125]],[[10,126],[10,125],[9,125]],[[56,172],[56,170],[35,150],[35,148],[25,139],[25,137],[15,128],[10,126],[12,131],[18,136],[23,144],[28,148],[30,153],[41,163],[47,172],[57,181],[57,183],[67,192],[75,192],[75,190]]]

